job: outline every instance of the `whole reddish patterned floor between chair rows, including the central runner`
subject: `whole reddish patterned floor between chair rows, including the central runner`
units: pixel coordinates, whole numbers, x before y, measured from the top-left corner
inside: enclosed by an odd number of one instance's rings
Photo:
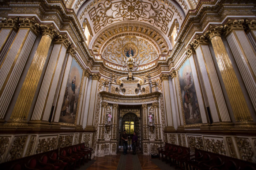
[[[101,158],[96,157],[94,159],[96,161],[87,170],[161,170],[151,161],[150,156],[140,153],[138,155],[132,155],[132,152],[128,152],[127,155],[123,155],[122,152],[118,152],[117,155]]]

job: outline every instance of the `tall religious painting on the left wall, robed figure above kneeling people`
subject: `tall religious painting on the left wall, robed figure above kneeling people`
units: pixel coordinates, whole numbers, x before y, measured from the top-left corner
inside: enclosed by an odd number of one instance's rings
[[[82,75],[82,68],[75,59],[72,59],[61,107],[60,122],[71,124],[75,123]]]

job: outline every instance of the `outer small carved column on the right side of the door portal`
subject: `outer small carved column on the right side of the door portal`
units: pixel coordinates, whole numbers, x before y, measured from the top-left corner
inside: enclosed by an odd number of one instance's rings
[[[161,141],[161,123],[160,123],[160,115],[159,115],[159,103],[152,103],[152,107],[155,115],[155,140]]]

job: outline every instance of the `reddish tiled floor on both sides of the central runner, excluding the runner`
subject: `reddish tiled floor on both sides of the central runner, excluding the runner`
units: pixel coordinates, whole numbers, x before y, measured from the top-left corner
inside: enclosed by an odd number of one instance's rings
[[[118,162],[121,156],[121,152],[118,152],[117,155],[113,156],[105,156],[105,157],[95,157],[94,159],[96,160],[87,170],[104,170],[104,169],[111,169],[115,170],[117,169]],[[126,162],[125,166],[121,169],[123,170],[132,170],[134,167],[133,160],[134,158],[132,157],[132,153],[128,153],[126,155]],[[155,165],[152,161],[150,161],[151,157],[150,156],[145,156],[140,153],[138,153],[138,158],[139,158],[139,163],[141,166],[142,170],[161,170],[157,165]]]

